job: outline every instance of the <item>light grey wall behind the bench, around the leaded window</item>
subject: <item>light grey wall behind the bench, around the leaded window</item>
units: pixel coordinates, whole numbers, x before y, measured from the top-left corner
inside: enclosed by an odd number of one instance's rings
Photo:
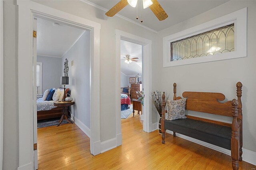
[[[190,64],[163,68],[163,37],[191,28],[209,20],[224,16],[248,7],[247,57],[231,60]],[[256,151],[256,1],[229,1],[212,10],[158,32],[158,64],[161,83],[159,87],[173,96],[172,84],[177,83],[178,96],[184,91],[221,92],[228,100],[236,98],[236,82],[241,81],[243,104],[244,148]],[[197,116],[205,114],[188,112]],[[222,119],[222,116],[207,114],[209,118]],[[225,118],[229,121],[229,118]]]

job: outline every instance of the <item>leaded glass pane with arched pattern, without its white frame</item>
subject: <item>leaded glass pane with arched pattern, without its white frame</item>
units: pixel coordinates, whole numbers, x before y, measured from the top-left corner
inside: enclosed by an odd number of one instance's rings
[[[235,51],[234,23],[170,42],[170,61]]]

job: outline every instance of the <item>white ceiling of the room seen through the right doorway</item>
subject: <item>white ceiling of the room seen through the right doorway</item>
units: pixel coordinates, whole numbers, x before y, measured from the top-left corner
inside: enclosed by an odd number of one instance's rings
[[[120,44],[121,52],[121,72],[126,76],[134,76],[136,74],[142,75],[142,46],[121,40]],[[131,58],[138,57],[138,62],[132,62],[127,64],[124,62],[125,55],[130,54]]]

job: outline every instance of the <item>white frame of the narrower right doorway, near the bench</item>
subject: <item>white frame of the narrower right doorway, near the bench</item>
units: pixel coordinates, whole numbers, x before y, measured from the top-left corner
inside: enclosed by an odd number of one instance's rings
[[[122,144],[121,133],[121,103],[120,103],[120,41],[125,40],[142,45],[142,60],[143,60],[143,88],[144,88],[144,106],[143,106],[143,130],[145,132],[152,131],[152,103],[150,96],[152,91],[152,41],[140,36],[116,30],[116,140],[117,146]]]

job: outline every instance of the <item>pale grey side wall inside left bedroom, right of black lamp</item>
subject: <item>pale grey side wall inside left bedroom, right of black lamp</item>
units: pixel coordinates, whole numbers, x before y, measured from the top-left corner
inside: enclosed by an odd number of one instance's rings
[[[90,128],[90,32],[86,31],[62,56],[62,70],[68,59],[68,76],[71,96],[75,102],[72,115]],[[74,65],[71,66],[73,60]],[[62,73],[64,76],[64,73]]]

